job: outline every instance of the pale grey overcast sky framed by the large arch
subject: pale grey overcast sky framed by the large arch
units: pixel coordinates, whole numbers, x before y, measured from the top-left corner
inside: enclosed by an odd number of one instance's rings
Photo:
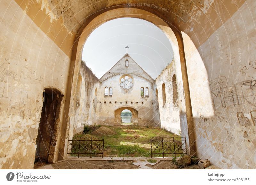
[[[172,61],[171,43],[154,24],[136,18],[119,18],[96,28],[84,45],[82,60],[100,78],[125,54],[153,78]]]

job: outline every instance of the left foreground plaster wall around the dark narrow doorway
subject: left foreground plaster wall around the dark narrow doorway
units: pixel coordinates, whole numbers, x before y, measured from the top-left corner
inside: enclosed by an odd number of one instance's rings
[[[0,168],[33,168],[43,90],[64,95],[63,118],[70,59],[14,1],[1,1],[0,18]]]

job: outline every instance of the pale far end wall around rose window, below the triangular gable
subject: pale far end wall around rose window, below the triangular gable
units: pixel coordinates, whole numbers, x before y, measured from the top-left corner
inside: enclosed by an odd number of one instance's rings
[[[123,75],[123,74],[120,74]],[[131,89],[123,89],[119,85],[120,75],[108,78],[108,80],[101,83],[99,90],[99,123],[112,125],[115,123],[115,110],[121,107],[131,107],[138,111],[138,121],[141,125],[153,124],[153,83],[147,80],[132,75],[134,80],[134,85]],[[104,96],[105,87],[113,88],[112,96]],[[148,87],[149,96],[140,96],[140,88]],[[126,92],[127,91],[127,92]],[[153,104],[152,104],[153,102]],[[117,123],[120,124],[120,123]]]

